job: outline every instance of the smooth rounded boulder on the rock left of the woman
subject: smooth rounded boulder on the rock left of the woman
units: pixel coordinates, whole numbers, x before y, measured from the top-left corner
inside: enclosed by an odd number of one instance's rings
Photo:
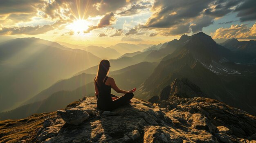
[[[69,124],[79,125],[89,118],[89,114],[80,108],[67,108],[66,110],[58,110],[57,114]]]

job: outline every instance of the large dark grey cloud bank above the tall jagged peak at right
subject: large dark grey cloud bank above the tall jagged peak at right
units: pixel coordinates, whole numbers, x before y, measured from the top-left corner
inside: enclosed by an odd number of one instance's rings
[[[240,21],[254,20],[255,5],[255,0],[155,0],[153,14],[139,27],[159,33],[169,30],[161,34],[166,36],[183,34],[182,31],[197,33],[233,11],[238,12]]]

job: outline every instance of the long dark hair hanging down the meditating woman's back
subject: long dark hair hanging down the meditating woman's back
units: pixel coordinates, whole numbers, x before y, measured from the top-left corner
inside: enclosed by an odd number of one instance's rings
[[[110,64],[107,59],[102,59],[101,62],[99,62],[98,73],[95,78],[95,81],[97,82],[98,86],[101,86],[101,84],[103,83],[103,79],[108,74],[109,67]]]

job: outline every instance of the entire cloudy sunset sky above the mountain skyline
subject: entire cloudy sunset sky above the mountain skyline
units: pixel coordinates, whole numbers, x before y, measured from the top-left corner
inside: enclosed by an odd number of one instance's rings
[[[203,31],[256,40],[256,0],[0,0],[0,35],[159,44]]]

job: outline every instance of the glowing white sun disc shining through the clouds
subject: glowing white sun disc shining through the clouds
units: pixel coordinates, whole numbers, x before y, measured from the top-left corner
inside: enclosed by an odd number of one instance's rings
[[[68,25],[68,28],[75,33],[83,33],[89,28],[90,23],[86,20],[75,20],[72,24]]]

